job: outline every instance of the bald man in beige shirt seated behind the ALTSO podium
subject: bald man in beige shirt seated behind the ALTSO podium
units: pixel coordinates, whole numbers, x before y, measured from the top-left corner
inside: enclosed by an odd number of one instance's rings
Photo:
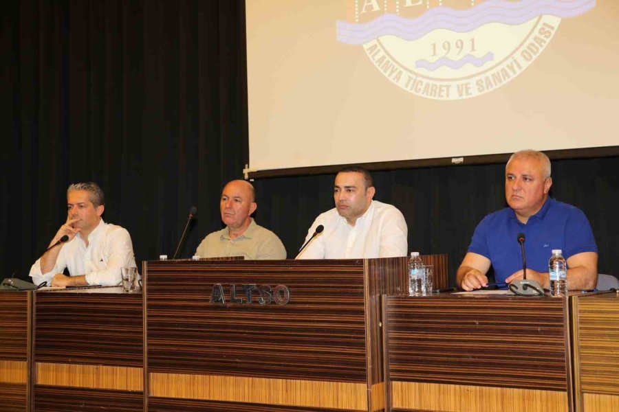
[[[219,209],[226,227],[209,233],[195,255],[200,258],[244,256],[249,260],[285,259],[286,249],[272,231],[250,217],[257,208],[254,187],[243,180],[228,183],[221,191]]]

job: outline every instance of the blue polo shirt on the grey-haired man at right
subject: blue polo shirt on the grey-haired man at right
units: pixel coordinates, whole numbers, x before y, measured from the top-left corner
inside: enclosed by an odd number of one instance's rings
[[[547,198],[539,211],[522,223],[510,207],[495,211],[479,222],[469,252],[485,256],[495,269],[495,281],[505,279],[522,269],[518,233],[525,234],[527,268],[545,273],[552,249],[561,249],[563,258],[583,252],[596,252],[598,247],[589,220],[578,207]]]

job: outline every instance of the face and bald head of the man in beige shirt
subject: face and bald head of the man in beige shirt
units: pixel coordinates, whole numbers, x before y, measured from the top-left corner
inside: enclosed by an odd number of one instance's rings
[[[252,190],[249,183],[231,181],[221,191],[221,220],[231,229],[238,229],[249,224],[250,215],[256,210],[256,203],[252,199]]]

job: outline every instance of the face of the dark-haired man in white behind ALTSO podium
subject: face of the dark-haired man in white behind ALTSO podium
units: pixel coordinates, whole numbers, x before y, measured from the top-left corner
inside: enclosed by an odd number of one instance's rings
[[[357,218],[362,216],[369,207],[374,192],[374,187],[365,187],[362,173],[338,173],[333,192],[338,214],[354,225]]]

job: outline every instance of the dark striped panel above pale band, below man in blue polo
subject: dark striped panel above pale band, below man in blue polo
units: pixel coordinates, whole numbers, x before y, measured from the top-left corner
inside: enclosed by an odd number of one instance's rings
[[[389,380],[567,391],[565,299],[388,297]]]

